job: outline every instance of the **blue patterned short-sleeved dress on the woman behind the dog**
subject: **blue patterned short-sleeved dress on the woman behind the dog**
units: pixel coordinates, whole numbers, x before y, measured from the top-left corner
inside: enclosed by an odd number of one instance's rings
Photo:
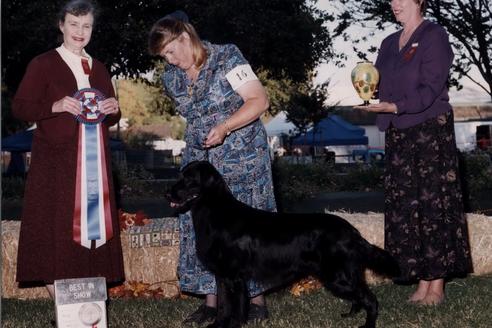
[[[236,199],[255,208],[275,211],[267,137],[259,119],[232,132],[222,145],[208,150],[202,147],[210,129],[243,105],[242,98],[225,76],[236,66],[248,64],[235,45],[204,44],[207,62],[193,85],[186,73],[173,65],[166,65],[162,76],[165,92],[174,100],[178,113],[187,122],[183,166],[194,160],[208,160],[222,174]],[[214,276],[196,257],[195,233],[189,213],[180,215],[179,228],[181,290],[216,294]],[[250,296],[264,291],[254,282],[248,284],[248,289]]]

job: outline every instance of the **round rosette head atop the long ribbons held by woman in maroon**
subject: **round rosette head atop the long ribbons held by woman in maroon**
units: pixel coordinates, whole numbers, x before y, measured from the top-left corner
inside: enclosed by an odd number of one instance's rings
[[[101,91],[94,88],[80,89],[73,97],[80,101],[80,114],[75,117],[80,123],[98,124],[106,118],[99,110],[99,102],[106,99]]]

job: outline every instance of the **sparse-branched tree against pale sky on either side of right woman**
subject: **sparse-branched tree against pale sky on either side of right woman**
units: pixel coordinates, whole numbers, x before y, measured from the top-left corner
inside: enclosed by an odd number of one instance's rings
[[[340,0],[343,5],[338,15],[337,33],[345,40],[355,42],[355,50],[363,57],[357,44],[393,25],[394,15],[388,0]],[[492,0],[428,0],[428,18],[446,28],[455,52],[452,84],[458,88],[458,81],[466,76],[485,90],[492,100]],[[352,25],[368,27],[372,34],[354,38],[348,34]],[[376,48],[369,49],[376,51]],[[475,66],[485,84],[470,75]]]

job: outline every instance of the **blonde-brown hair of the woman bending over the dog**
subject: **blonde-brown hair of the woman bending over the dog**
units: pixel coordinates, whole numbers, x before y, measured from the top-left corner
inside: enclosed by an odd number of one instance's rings
[[[185,23],[170,17],[158,20],[149,33],[149,52],[157,56],[170,42],[178,39],[186,32],[190,36],[193,49],[193,60],[196,67],[201,67],[207,59],[207,51],[203,46],[198,33],[190,23]]]

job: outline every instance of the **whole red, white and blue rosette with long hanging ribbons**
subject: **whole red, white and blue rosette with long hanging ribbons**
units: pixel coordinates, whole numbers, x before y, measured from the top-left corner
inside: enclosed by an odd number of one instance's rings
[[[76,116],[79,125],[77,144],[77,176],[73,214],[73,240],[83,247],[103,246],[113,237],[109,193],[109,154],[104,143],[101,123],[106,117],[99,110],[104,95],[97,89],[77,91],[81,113]]]

